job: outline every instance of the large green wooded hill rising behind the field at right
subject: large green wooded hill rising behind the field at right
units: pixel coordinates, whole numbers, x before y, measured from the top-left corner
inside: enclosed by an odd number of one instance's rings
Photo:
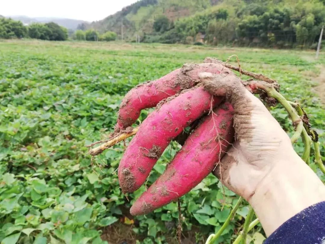
[[[141,0],[87,28],[123,39],[162,43],[314,47],[325,23],[324,1]]]

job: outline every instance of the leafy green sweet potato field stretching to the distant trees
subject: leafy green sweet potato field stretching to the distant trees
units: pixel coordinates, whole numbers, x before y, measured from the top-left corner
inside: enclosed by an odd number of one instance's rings
[[[128,209],[145,186],[128,199],[122,194],[114,172],[123,145],[92,162],[84,145],[112,131],[123,95],[136,84],[185,62],[207,56],[226,60],[232,54],[239,56],[242,68],[277,79],[287,99],[301,102],[321,136],[324,160],[325,106],[315,93],[324,53],[315,61],[314,52],[296,50],[0,41],[0,241],[174,243],[177,203],[131,218]],[[287,113],[281,107],[271,112],[292,134]],[[174,142],[166,149],[148,186],[177,148]],[[295,149],[301,154],[302,143]],[[212,175],[182,197],[188,243],[203,243],[220,228],[236,199]],[[236,237],[247,211],[240,208],[221,243]],[[260,226],[250,233],[255,244],[262,234]]]

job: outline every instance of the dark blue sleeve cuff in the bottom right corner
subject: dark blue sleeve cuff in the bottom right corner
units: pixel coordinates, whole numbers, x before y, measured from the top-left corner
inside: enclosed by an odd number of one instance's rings
[[[312,205],[284,222],[264,244],[325,244],[325,202]]]

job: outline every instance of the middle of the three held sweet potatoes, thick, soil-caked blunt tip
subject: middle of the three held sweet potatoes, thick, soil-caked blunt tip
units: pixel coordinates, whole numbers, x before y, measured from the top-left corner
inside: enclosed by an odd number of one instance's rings
[[[195,87],[170,98],[149,114],[120,162],[118,177],[122,192],[138,189],[169,142],[222,99],[213,97],[203,87]]]

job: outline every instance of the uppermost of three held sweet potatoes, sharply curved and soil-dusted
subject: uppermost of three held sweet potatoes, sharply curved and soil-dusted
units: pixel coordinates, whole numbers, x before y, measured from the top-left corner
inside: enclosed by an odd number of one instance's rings
[[[136,86],[122,100],[115,131],[131,126],[142,109],[154,107],[161,100],[193,87],[199,81],[199,73],[219,74],[222,68],[218,63],[184,64],[160,79]]]

